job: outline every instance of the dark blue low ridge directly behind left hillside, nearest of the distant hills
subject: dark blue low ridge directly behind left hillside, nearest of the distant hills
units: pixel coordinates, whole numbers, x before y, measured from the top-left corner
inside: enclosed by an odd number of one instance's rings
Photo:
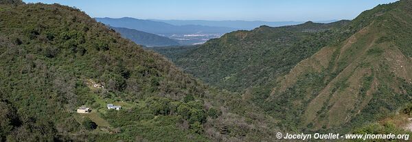
[[[116,32],[122,34],[122,37],[128,38],[133,42],[144,45],[147,47],[164,47],[172,45],[180,45],[177,40],[167,38],[165,36],[159,36],[157,34],[150,34],[147,32],[141,32],[136,29],[128,29],[125,27],[111,27]]]

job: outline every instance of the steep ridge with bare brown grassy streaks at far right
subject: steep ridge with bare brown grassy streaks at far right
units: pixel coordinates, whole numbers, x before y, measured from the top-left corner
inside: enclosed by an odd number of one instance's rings
[[[350,27],[365,27],[299,62],[266,104],[295,106],[284,119],[298,117],[295,125],[308,130],[350,130],[396,113],[412,100],[411,6],[398,1],[363,12]],[[286,111],[279,107],[266,109]]]

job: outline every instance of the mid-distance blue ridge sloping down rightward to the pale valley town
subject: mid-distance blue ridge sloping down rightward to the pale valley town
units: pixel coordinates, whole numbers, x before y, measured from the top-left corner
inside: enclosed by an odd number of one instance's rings
[[[133,19],[130,17],[124,17],[120,19],[111,18],[95,18],[96,21],[110,25],[113,27],[126,27],[129,29],[137,29],[143,32],[149,32],[152,34],[170,35],[170,34],[216,34],[227,33],[236,30],[231,27],[211,27],[204,25],[172,25],[169,23]]]

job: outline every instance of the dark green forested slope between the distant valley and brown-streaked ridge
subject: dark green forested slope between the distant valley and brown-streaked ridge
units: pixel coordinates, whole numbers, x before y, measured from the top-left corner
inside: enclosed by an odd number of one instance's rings
[[[242,92],[286,73],[321,47],[339,40],[342,34],[347,34],[339,27],[346,24],[347,21],[339,21],[261,26],[252,31],[231,32],[193,49],[165,56],[209,84]]]

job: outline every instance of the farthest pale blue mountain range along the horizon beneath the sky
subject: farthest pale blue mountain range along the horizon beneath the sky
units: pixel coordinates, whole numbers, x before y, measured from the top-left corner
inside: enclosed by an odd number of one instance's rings
[[[231,27],[235,29],[254,29],[260,25],[268,25],[271,27],[279,27],[284,25],[298,25],[305,23],[304,21],[207,21],[207,20],[159,20],[159,19],[149,19],[150,21],[158,21],[169,23],[172,25],[205,25],[212,27]],[[336,20],[330,21],[314,21],[315,23],[332,23]]]

